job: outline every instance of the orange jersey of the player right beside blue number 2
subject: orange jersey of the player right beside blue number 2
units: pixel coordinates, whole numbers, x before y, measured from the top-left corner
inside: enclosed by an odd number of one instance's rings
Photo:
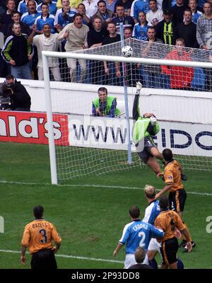
[[[163,230],[164,237],[162,241],[175,237],[175,227],[179,230],[186,228],[177,212],[173,212],[172,210],[160,212],[155,219],[155,227]]]

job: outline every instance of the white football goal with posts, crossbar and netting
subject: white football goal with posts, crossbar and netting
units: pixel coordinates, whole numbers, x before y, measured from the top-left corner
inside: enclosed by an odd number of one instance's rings
[[[175,69],[177,67],[211,69],[211,63],[206,62],[208,57],[202,50],[188,48],[187,52],[193,54],[191,55],[192,60],[181,61],[172,58],[161,59],[165,58],[175,47],[157,44],[157,52],[153,54],[152,58],[149,58],[141,57],[141,50],[147,47],[148,42],[130,39],[124,40],[124,45],[131,45],[134,57],[126,58],[122,56],[121,42],[74,53],[42,51],[53,184],[58,183],[60,180],[67,180],[81,175],[101,174],[114,170],[134,168],[141,166],[141,162],[134,150],[134,145],[131,143],[134,163],[132,166],[127,165],[125,117],[118,119],[93,117],[91,115],[91,103],[98,96],[97,91],[100,86],[108,88],[108,95],[112,93],[112,96],[117,97],[118,102],[123,100],[121,97],[124,97],[123,84],[102,85],[102,83],[90,83],[90,77],[94,69],[88,68],[88,79],[85,79],[84,83],[78,83],[77,78],[76,82],[71,82],[69,79],[63,82],[55,82],[57,87],[54,88],[52,87],[54,82],[49,81],[49,58],[60,58],[62,62],[66,61],[66,59],[83,59],[86,60],[87,67],[92,66],[90,62],[105,61],[119,62],[120,65],[122,63],[134,64],[144,68],[151,66],[153,69],[157,66],[167,66],[169,68],[172,66],[176,67]],[[62,69],[64,67],[60,66],[60,71]],[[77,72],[80,71],[81,67],[78,67]],[[90,71],[89,74],[88,71]],[[99,76],[100,73],[97,72],[95,79],[98,79]],[[132,80],[134,79],[133,76],[134,70],[131,69]],[[146,83],[145,78],[143,77],[144,83]],[[186,81],[186,79],[182,76],[182,81]],[[58,89],[63,88],[67,88],[66,91],[58,91]],[[131,83],[131,85],[127,86],[127,89],[128,106],[131,112],[134,94],[136,93],[135,84]],[[122,93],[122,96],[119,93]],[[210,112],[206,110],[206,105],[208,105],[208,108],[212,107],[210,94],[206,90],[199,93],[184,89],[177,90],[177,88],[165,89],[146,86],[141,91],[141,112],[155,113],[160,123],[161,131],[157,139],[155,139],[158,148],[160,150],[165,147],[173,149],[174,154],[177,155],[184,168],[212,170],[212,132],[210,129],[212,115],[206,117]],[[174,98],[175,101],[172,100]],[[194,109],[189,110],[189,105]],[[194,116],[192,116],[192,112],[195,114]],[[66,132],[66,137],[64,137],[61,144],[59,142],[55,144],[55,117],[57,117],[57,121],[64,121],[61,127],[63,132]],[[133,120],[131,119],[130,125],[132,128]],[[190,130],[191,132],[189,132]],[[129,134],[131,136],[131,132]],[[74,139],[76,140],[73,141]],[[88,141],[89,139],[92,141]]]

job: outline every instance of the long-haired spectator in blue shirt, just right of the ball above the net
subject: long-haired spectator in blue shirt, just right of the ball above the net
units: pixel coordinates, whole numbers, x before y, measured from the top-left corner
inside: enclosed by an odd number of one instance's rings
[[[137,40],[148,40],[147,36],[147,21],[146,21],[146,13],[140,12],[139,13],[139,23],[134,25],[133,37]]]

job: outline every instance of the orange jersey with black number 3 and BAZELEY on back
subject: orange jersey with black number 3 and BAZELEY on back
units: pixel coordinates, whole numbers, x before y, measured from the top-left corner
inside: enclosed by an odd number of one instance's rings
[[[61,242],[54,225],[45,219],[35,219],[25,226],[21,245],[28,247],[32,254],[43,248],[53,248],[52,240],[55,243]]]

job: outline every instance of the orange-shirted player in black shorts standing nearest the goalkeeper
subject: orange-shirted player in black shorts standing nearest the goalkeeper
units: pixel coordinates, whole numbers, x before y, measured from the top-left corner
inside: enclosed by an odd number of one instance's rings
[[[169,205],[170,209],[175,210],[179,214],[182,219],[182,214],[184,210],[184,204],[187,199],[187,192],[184,190],[184,185],[182,184],[182,168],[179,162],[173,159],[173,154],[170,149],[163,150],[163,158],[165,160],[165,168],[164,168],[164,180],[165,187],[163,190],[158,192],[155,195],[155,199],[159,198],[165,192],[169,192]],[[186,224],[185,224],[186,225]],[[187,252],[187,242],[184,237],[182,243],[179,244],[180,247],[184,247],[184,252]],[[192,247],[194,248],[196,244],[192,241]]]

